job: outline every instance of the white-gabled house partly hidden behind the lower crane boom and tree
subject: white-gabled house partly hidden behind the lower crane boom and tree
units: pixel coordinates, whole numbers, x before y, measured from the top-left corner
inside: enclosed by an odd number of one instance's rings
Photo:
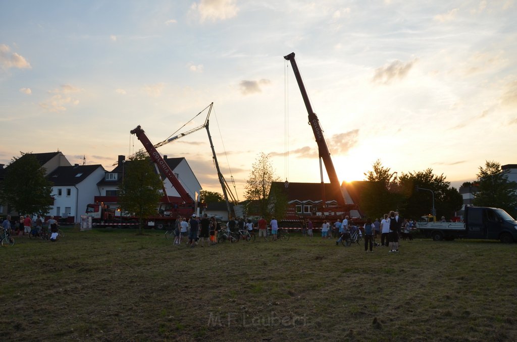
[[[176,178],[178,178],[190,197],[196,200],[202,188],[187,160],[185,158],[168,158],[167,156],[163,156],[163,160],[171,167]],[[118,156],[117,166],[111,172],[106,172],[104,177],[97,182],[98,195],[93,198],[95,202],[102,202],[115,210],[120,208],[118,204],[118,188],[124,182],[126,166],[130,163],[131,161],[126,160],[125,156]],[[169,201],[173,204],[182,203],[183,199],[181,199],[179,192],[174,189],[171,181],[163,173],[160,173],[160,175]],[[165,202],[166,199],[162,201]],[[194,212],[193,205],[190,211]]]

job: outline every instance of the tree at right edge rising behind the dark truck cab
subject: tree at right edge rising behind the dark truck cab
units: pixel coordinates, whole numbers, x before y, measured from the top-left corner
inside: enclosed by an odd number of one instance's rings
[[[486,161],[485,167],[479,167],[478,192],[474,205],[496,207],[507,211],[515,217],[517,214],[517,183],[508,180],[508,170],[502,170],[497,162]]]

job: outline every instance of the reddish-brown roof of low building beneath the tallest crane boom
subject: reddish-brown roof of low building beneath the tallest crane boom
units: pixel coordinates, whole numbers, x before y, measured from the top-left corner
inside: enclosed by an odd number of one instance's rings
[[[340,194],[332,187],[330,183],[324,183],[325,186],[325,199],[337,200]],[[281,189],[283,193],[287,195],[287,201],[293,200],[311,200],[318,201],[323,199],[322,184],[321,183],[289,183],[287,188],[284,182],[272,182],[271,187]]]

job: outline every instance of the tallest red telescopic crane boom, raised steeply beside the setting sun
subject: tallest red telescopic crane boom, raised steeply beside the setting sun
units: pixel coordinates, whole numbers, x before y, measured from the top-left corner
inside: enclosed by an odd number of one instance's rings
[[[298,70],[298,66],[296,64],[296,60],[294,58],[294,52],[284,56],[284,58],[291,62],[293,67],[293,72],[296,77],[296,81],[298,82],[298,87],[300,88],[301,97],[303,98],[303,102],[305,102],[305,107],[307,108],[307,112],[309,114],[309,125],[312,127],[312,132],[314,133],[314,138],[316,139],[316,144],[318,145],[318,153],[320,155],[320,165],[321,160],[323,159],[323,163],[325,164],[325,168],[327,169],[327,175],[330,180],[330,184],[336,190],[339,195],[336,200],[338,204],[341,206],[345,205],[345,197],[343,196],[343,192],[341,191],[341,184],[339,183],[338,175],[336,173],[336,168],[334,168],[334,164],[332,163],[332,159],[330,158],[330,151],[328,150],[327,143],[325,141],[325,137],[323,136],[323,130],[320,125],[320,120],[316,113],[312,110],[311,102],[309,101],[309,96],[307,95],[307,90],[305,89],[305,85],[303,85],[303,80],[301,79],[300,71]],[[323,182],[323,179],[322,179]]]

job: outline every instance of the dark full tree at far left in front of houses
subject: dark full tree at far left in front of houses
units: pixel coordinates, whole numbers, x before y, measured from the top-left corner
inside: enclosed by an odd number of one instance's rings
[[[45,169],[34,154],[20,153],[6,168],[0,198],[19,214],[44,215],[53,204],[52,182],[45,178]]]

